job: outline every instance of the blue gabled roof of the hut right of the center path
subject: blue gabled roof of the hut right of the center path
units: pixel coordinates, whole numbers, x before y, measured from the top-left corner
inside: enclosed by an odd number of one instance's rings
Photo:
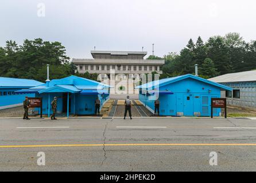
[[[185,75],[179,75],[179,76],[172,77],[172,78],[160,79],[160,80],[157,80],[157,81],[152,81],[152,82],[145,83],[145,84],[140,85],[140,86],[136,86],[135,88],[137,88],[137,89],[139,89],[139,88],[141,88],[141,89],[152,89],[153,87],[161,87],[161,86],[164,86],[164,85],[168,85],[169,83],[181,81],[181,80],[187,79],[187,78],[193,78],[193,79],[196,79],[198,81],[205,82],[205,83],[208,83],[210,85],[220,87],[224,90],[232,91],[231,87],[224,86],[224,85],[221,85],[219,83],[209,81],[207,79],[204,79],[204,78],[192,75],[192,74],[185,74]]]

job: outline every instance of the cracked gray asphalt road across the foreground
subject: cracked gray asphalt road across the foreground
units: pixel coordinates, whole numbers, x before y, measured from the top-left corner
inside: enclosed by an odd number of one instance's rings
[[[0,171],[255,170],[256,120],[0,120]]]

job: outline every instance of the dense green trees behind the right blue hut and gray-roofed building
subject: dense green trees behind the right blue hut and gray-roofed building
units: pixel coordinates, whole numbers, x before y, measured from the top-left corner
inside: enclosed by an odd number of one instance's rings
[[[256,41],[246,42],[238,33],[228,33],[210,37],[203,42],[189,40],[188,45],[177,53],[169,53],[163,58],[150,55],[148,59],[165,59],[161,78],[195,73],[199,65],[199,75],[211,78],[217,75],[256,69]]]

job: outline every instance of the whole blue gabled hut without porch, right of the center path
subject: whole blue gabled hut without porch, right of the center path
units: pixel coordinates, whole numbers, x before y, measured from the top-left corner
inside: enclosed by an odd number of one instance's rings
[[[159,97],[160,115],[211,116],[211,98],[220,98],[221,90],[231,87],[208,81],[192,74],[145,83],[139,89],[139,100],[154,112],[154,100]],[[220,109],[214,108],[214,116]]]

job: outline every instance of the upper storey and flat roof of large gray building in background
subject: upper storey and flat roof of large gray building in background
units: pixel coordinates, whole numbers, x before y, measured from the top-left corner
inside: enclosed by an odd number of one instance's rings
[[[91,51],[94,59],[73,58],[72,62],[77,65],[79,73],[107,74],[115,70],[115,74],[143,74],[156,71],[162,74],[160,66],[164,60],[144,59],[146,51]]]

